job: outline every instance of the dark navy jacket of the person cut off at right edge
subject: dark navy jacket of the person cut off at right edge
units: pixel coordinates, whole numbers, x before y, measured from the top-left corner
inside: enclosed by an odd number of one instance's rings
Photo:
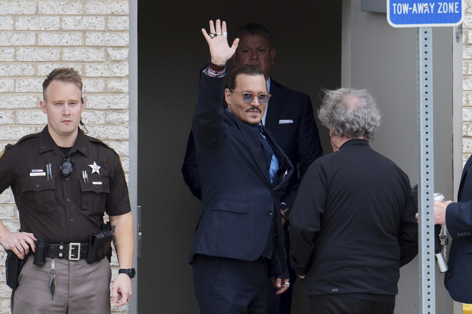
[[[472,156],[462,171],[457,203],[446,209],[446,226],[452,237],[449,270],[444,276],[451,298],[472,303]]]

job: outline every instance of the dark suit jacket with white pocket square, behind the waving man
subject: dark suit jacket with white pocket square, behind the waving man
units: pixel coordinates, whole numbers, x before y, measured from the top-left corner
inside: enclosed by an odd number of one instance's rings
[[[310,97],[282,86],[272,78],[269,92],[272,96],[267,106],[265,126],[289,157],[292,165],[294,167],[298,165],[300,173],[298,178],[296,174],[291,177],[286,193],[281,198],[281,201],[292,206],[305,171],[315,159],[323,156],[323,149]],[[188,137],[182,174],[192,194],[202,200],[202,186],[192,132]]]

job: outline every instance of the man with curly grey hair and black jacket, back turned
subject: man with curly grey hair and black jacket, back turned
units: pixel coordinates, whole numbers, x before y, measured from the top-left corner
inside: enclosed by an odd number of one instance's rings
[[[305,173],[290,213],[290,258],[311,314],[393,314],[399,268],[418,252],[408,176],[369,146],[380,125],[364,90],[326,92],[333,153]]]

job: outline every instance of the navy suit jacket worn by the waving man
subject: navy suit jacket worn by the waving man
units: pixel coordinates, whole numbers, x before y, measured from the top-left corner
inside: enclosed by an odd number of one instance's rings
[[[195,254],[256,260],[266,247],[275,215],[276,254],[269,273],[277,276],[287,271],[287,265],[282,219],[280,210],[275,208],[294,168],[263,127],[280,164],[270,182],[259,128],[243,123],[221,107],[224,88],[224,78],[201,73],[192,131],[202,182],[202,213],[189,262],[193,262]]]

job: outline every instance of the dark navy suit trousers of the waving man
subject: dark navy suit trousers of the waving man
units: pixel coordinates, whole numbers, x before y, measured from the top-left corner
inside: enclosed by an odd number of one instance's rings
[[[193,283],[202,314],[266,314],[268,259],[197,255]]]

